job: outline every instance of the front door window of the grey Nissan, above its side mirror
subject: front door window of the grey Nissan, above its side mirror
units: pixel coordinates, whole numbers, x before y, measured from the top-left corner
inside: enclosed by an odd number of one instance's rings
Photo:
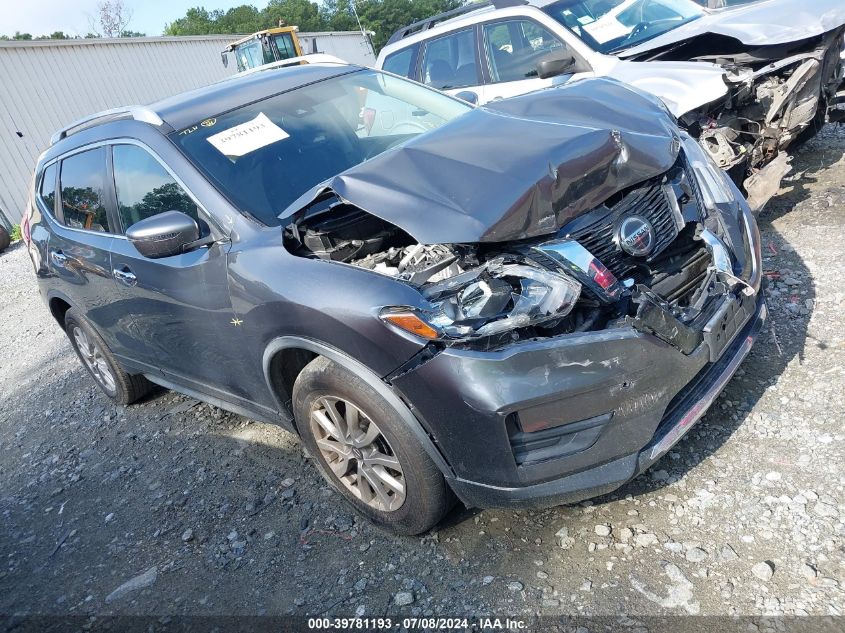
[[[197,205],[148,151],[137,145],[115,145],[112,151],[117,209],[124,230],[165,211],[181,211],[200,223]]]

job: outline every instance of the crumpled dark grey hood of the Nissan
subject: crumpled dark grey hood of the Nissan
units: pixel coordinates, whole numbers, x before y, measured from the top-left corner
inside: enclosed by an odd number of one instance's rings
[[[654,97],[587,79],[476,108],[325,181],[281,217],[331,190],[422,244],[525,239],[667,171],[678,151]]]

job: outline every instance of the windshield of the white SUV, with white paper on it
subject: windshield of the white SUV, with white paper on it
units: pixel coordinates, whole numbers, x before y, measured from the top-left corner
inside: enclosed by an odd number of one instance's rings
[[[543,11],[600,53],[642,44],[704,15],[692,0],[558,0]]]

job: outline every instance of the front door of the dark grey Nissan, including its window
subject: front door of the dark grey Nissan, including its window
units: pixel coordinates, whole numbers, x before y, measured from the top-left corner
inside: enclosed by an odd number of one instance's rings
[[[212,231],[210,216],[152,150],[116,142],[111,160],[121,234],[165,211],[191,216],[203,235]],[[210,395],[230,393],[238,342],[229,325],[227,246],[218,242],[148,259],[122,235],[115,239],[111,271],[121,315],[117,332],[126,350],[121,360],[143,371],[159,370],[173,382]]]

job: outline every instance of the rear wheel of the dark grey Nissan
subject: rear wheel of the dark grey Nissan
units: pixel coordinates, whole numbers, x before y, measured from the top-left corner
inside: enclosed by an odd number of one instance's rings
[[[102,337],[73,308],[65,314],[65,333],[82,366],[109,398],[126,405],[149,393],[152,383],[143,376],[126,373]]]

